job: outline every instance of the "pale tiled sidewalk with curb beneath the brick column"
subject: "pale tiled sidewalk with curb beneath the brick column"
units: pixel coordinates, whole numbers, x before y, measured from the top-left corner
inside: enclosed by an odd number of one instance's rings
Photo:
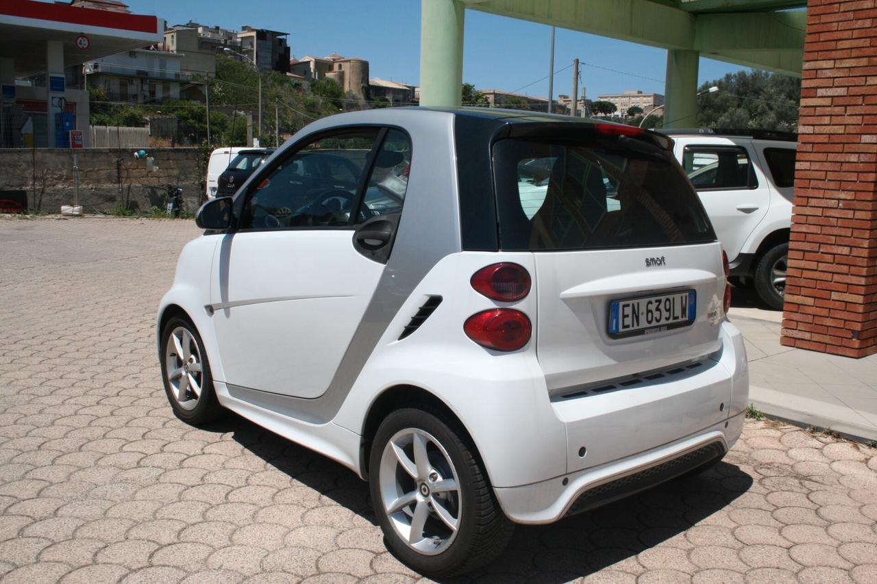
[[[780,345],[782,313],[733,307],[752,406],[768,416],[877,440],[877,355],[850,359]]]

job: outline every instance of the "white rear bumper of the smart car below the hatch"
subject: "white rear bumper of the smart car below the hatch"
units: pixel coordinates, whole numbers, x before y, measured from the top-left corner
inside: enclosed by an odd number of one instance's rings
[[[506,516],[552,523],[724,456],[743,431],[749,375],[742,336],[729,322],[721,326],[722,350],[700,374],[553,404],[566,428],[567,473],[494,488]]]

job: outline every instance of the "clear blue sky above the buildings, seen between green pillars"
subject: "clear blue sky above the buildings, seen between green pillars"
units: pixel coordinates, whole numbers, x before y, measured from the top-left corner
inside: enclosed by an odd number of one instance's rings
[[[369,61],[372,77],[417,84],[420,69],[419,0],[125,0],[137,14],[153,14],[168,25],[194,20],[239,29],[242,25],[289,32],[290,51],[324,56],[339,53]],[[480,89],[547,96],[550,27],[466,11],[463,80]],[[664,92],[663,49],[557,29],[554,96],[572,89],[571,66],[581,66],[579,91],[588,97],[624,89]],[[615,69],[613,73],[601,68]],[[700,82],[742,67],[701,59]],[[638,76],[634,76],[638,75]],[[528,87],[524,87],[528,86]]]

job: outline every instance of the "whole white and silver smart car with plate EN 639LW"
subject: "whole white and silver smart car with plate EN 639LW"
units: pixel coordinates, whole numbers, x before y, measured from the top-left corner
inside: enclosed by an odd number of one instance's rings
[[[349,467],[430,575],[715,464],[745,350],[671,146],[506,110],[307,126],[198,211],[158,312],[175,414],[233,410]]]

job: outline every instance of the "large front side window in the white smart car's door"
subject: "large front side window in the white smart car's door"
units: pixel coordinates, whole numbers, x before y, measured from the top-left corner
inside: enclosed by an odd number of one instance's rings
[[[312,140],[282,160],[248,194],[241,229],[350,224],[360,178],[379,130],[348,130]]]

